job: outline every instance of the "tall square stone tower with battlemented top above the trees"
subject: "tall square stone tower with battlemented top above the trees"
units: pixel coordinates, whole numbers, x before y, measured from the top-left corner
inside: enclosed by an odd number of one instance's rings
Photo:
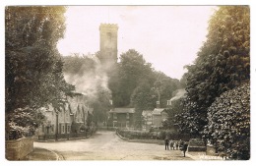
[[[117,62],[117,30],[114,24],[100,24],[100,55],[99,60],[103,65],[109,66]]]

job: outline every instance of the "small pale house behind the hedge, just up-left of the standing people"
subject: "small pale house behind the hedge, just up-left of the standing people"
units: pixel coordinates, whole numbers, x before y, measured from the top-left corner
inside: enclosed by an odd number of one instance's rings
[[[152,112],[152,126],[155,128],[161,127],[161,122],[167,119],[168,114],[164,111],[165,108],[155,108]]]

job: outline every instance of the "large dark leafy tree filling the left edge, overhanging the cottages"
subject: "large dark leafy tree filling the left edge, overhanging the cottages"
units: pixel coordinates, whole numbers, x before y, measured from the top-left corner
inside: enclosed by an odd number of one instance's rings
[[[15,122],[11,115],[35,111],[74,89],[63,78],[56,48],[65,30],[65,10],[53,6],[5,9],[6,136],[14,129],[10,124],[26,125]],[[28,127],[33,129],[38,124]]]

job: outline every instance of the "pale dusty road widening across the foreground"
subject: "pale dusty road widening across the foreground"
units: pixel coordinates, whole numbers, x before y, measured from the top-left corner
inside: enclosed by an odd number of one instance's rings
[[[87,139],[34,142],[34,147],[46,148],[64,160],[192,160],[180,150],[164,150],[155,143],[128,142],[114,132],[98,131]]]

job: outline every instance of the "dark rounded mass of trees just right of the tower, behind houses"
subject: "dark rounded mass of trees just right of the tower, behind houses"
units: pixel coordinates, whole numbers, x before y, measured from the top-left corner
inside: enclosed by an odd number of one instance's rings
[[[134,49],[120,55],[120,62],[109,76],[114,107],[134,107],[136,128],[141,128],[143,110],[153,110],[158,100],[165,108],[172,92],[181,87],[178,80],[156,71]]]

